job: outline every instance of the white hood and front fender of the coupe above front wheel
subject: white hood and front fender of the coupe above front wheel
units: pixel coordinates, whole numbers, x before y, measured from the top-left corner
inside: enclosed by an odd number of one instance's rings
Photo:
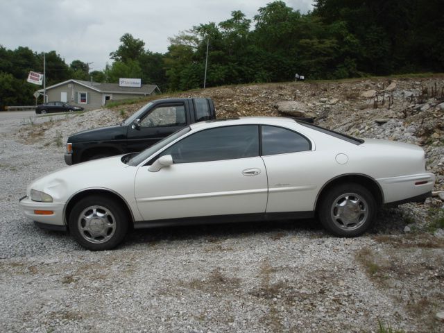
[[[133,193],[136,167],[121,162],[121,156],[105,157],[60,169],[34,180],[26,189],[43,191],[54,202],[66,202],[72,195],[84,189],[110,189],[122,196]]]

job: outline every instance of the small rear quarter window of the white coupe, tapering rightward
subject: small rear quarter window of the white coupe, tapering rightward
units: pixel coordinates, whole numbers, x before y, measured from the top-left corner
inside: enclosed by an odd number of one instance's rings
[[[276,126],[261,126],[262,128],[262,155],[277,155],[309,151],[309,140],[287,128]]]

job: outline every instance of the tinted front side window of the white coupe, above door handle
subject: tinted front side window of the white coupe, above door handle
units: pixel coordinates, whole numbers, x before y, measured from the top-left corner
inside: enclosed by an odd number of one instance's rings
[[[208,162],[259,155],[259,129],[256,125],[226,126],[203,130],[169,147],[174,163]]]

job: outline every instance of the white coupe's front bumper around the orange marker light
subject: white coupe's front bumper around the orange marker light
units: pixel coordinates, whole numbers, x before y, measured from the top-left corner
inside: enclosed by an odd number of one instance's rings
[[[40,222],[46,225],[66,227],[63,219],[63,210],[65,203],[39,203],[31,200],[28,196],[21,198],[19,201],[20,208],[24,215],[33,221]],[[35,210],[51,210],[53,214],[40,215],[35,214]]]

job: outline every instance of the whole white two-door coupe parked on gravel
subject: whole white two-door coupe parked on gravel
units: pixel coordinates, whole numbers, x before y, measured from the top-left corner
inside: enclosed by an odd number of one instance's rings
[[[129,226],[314,216],[354,237],[378,207],[425,200],[434,181],[418,146],[257,117],[195,123],[141,153],[56,171],[29,185],[20,206],[89,250],[114,248]]]

